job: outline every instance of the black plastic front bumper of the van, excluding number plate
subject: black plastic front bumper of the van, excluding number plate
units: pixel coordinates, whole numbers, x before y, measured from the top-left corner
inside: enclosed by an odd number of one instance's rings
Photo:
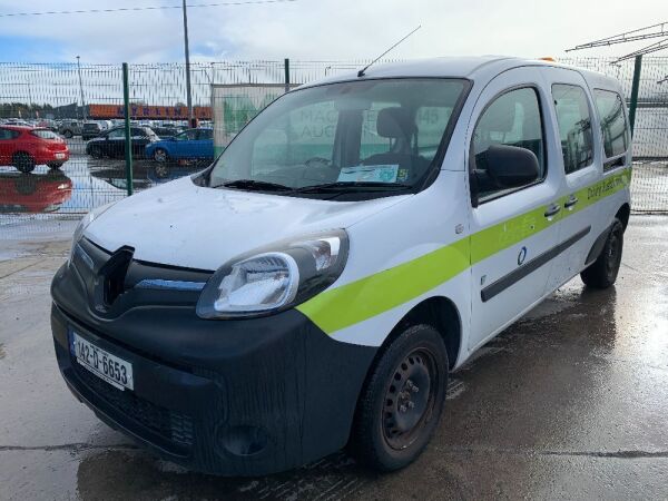
[[[52,284],[58,365],[110,426],[190,470],[257,475],[296,468],[347,442],[376,348],[332,340],[302,313],[204,321],[194,307],[90,312],[75,273]],[[120,391],[76,362],[71,333],[132,364]]]

